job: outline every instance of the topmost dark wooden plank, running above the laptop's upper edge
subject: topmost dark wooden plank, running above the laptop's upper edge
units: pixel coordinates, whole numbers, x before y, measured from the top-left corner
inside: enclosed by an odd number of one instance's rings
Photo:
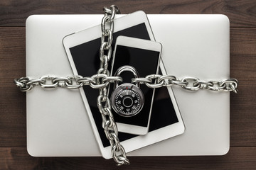
[[[255,27],[256,1],[9,1],[0,2],[0,26],[25,26],[26,18],[32,14],[87,14],[102,13],[103,6],[116,4],[122,13],[145,11],[146,13],[200,14],[221,13],[230,18],[232,27]]]

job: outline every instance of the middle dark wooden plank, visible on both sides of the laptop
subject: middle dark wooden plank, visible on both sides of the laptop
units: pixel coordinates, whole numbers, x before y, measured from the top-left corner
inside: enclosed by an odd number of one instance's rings
[[[0,28],[0,147],[26,147],[26,95],[12,83],[25,76],[25,28]],[[231,94],[230,145],[256,146],[256,28],[230,31],[231,76],[240,81]]]

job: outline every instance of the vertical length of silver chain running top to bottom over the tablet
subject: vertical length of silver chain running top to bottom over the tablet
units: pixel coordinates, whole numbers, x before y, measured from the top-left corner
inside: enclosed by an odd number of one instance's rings
[[[100,69],[97,72],[101,75],[102,79],[96,80],[97,86],[103,86],[99,89],[97,107],[102,114],[102,125],[105,135],[107,139],[110,140],[112,157],[114,161],[117,162],[117,166],[120,166],[122,164],[129,164],[129,159],[127,159],[124,147],[119,142],[117,124],[114,121],[114,116],[111,111],[110,98],[107,96],[107,86],[109,82],[122,81],[121,77],[109,77],[110,72],[107,69],[108,62],[112,56],[114,16],[116,13],[120,13],[120,11],[119,8],[114,5],[110,6],[110,8],[104,7],[103,10],[105,11],[105,16],[102,18],[101,24]]]

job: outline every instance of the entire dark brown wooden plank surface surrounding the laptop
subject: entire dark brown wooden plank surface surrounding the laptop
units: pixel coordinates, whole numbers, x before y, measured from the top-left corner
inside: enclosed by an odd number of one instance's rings
[[[230,152],[218,157],[129,157],[117,167],[102,157],[36,158],[26,152],[26,94],[12,83],[26,75],[25,22],[31,14],[223,13],[230,18]],[[0,169],[256,169],[256,1],[0,1]]]

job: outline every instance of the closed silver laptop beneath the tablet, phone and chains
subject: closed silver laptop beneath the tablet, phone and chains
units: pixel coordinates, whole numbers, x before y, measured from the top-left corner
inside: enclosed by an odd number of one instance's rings
[[[26,76],[73,74],[62,40],[99,25],[103,15],[38,15],[26,21]],[[122,16],[122,15],[120,15]],[[119,17],[120,17],[119,16]],[[163,45],[167,74],[221,80],[230,75],[229,20],[223,15],[148,15]],[[230,147],[229,93],[185,91],[173,86],[186,130],[130,156],[223,155]],[[42,89],[26,94],[27,149],[34,157],[101,156],[78,90]]]

